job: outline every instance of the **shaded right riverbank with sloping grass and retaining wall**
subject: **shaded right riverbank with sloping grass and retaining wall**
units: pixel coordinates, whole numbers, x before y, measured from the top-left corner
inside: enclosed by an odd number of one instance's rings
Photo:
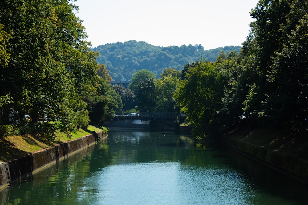
[[[238,127],[221,142],[253,160],[308,183],[308,132]]]

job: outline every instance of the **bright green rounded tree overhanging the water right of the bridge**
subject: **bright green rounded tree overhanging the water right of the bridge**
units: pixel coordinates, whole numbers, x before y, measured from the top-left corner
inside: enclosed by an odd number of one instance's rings
[[[203,137],[215,124],[223,89],[220,76],[214,72],[214,63],[201,60],[194,65],[188,69],[186,80],[181,81],[175,99],[188,120],[195,125],[195,135]]]

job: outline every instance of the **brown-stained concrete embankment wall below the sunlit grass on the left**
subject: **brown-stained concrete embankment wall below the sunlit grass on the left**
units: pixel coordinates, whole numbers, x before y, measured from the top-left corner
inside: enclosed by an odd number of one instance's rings
[[[14,181],[31,176],[34,172],[95,144],[96,140],[103,140],[104,138],[107,138],[107,134],[97,132],[4,162],[0,164],[0,189]]]

